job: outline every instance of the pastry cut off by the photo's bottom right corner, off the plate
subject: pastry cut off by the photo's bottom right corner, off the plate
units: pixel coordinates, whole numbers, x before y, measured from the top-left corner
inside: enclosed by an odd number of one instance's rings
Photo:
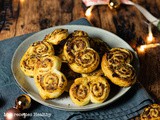
[[[151,104],[144,108],[140,115],[141,120],[160,120],[160,105]]]

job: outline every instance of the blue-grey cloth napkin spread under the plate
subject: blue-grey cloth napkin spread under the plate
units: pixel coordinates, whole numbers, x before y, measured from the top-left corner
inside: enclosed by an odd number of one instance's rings
[[[91,25],[85,18],[69,24]],[[33,34],[0,41],[0,120],[4,118],[7,109],[15,106],[15,99],[24,94],[12,75],[11,59],[18,45]],[[30,120],[127,120],[139,115],[145,106],[153,102],[146,90],[139,83],[136,83],[120,99],[96,110],[62,111],[32,101],[31,108],[23,115],[26,115]]]

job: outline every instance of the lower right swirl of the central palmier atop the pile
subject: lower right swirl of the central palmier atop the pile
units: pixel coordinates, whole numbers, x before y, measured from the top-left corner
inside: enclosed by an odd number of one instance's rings
[[[100,62],[98,53],[92,48],[79,51],[75,54],[74,62],[69,64],[70,68],[77,73],[90,73],[94,71]]]

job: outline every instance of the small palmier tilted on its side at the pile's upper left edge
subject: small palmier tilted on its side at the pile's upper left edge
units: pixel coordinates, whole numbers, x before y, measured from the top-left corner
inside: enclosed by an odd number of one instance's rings
[[[68,35],[67,29],[55,29],[52,33],[45,36],[44,41],[58,45],[62,40],[65,40]]]

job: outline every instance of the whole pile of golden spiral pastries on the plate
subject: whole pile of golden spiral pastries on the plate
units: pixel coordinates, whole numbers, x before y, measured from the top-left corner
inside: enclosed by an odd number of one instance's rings
[[[42,99],[58,98],[66,91],[73,103],[84,106],[104,102],[110,93],[110,81],[120,87],[134,84],[132,60],[133,54],[127,49],[110,49],[84,31],[69,34],[60,28],[30,45],[20,68],[34,78]]]

